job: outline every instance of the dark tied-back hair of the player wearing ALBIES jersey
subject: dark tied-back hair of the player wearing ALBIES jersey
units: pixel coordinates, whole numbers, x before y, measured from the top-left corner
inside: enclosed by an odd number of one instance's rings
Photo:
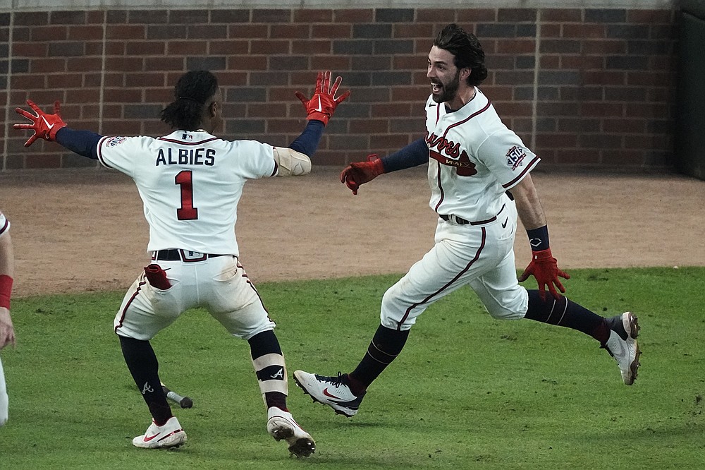
[[[184,73],[174,87],[171,104],[161,111],[161,120],[172,128],[195,131],[201,125],[203,105],[218,91],[218,79],[209,71]]]

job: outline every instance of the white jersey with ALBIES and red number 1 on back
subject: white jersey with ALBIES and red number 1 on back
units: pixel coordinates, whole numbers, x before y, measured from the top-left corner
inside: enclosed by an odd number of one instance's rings
[[[239,255],[234,227],[245,181],[277,172],[271,145],[205,131],[104,137],[98,159],[135,181],[149,222],[148,251]]]

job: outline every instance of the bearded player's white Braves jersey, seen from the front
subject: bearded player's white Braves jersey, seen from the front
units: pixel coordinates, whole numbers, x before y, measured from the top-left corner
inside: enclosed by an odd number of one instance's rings
[[[491,102],[475,88],[462,108],[446,112],[443,103],[426,103],[429,147],[429,205],[441,215],[489,222],[502,210],[512,188],[540,161],[502,123]]]

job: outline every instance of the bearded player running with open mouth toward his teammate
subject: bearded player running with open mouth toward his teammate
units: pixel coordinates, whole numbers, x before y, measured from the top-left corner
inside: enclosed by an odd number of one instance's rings
[[[637,317],[627,312],[603,318],[556,291],[565,292],[558,277],[568,275],[551,255],[546,217],[530,174],[540,159],[477,88],[486,76],[477,37],[455,24],[443,28],[428,56],[426,137],[387,157],[350,164],[341,174],[357,194],[361,184],[380,174],[428,163],[430,206],[439,218],[435,246],[382,297],[381,325],[357,368],[337,377],[294,372],[307,394],[338,414],[357,414],[367,387],[400,354],[419,315],[465,285],[494,318],[528,318],[583,332],[616,359],[626,385],[637,376]],[[517,216],[533,254],[518,280]],[[529,275],[539,290],[520,286]]]

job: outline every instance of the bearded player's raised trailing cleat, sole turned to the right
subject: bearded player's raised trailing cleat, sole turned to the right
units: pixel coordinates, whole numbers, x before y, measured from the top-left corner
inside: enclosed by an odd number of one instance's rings
[[[607,324],[611,329],[610,338],[603,347],[617,360],[625,385],[632,385],[637,378],[639,355],[642,354],[637,344],[637,335],[639,335],[637,316],[634,313],[625,312],[608,318]]]

